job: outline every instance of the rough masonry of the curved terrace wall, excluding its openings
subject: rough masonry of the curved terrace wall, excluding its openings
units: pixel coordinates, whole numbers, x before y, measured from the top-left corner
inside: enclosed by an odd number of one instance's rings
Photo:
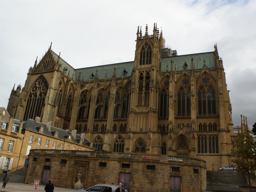
[[[116,153],[118,154],[118,153]],[[36,157],[36,162],[33,161]],[[45,162],[50,158],[50,162]],[[67,164],[61,164],[61,160]],[[99,166],[100,162],[106,167]],[[130,168],[122,168],[122,164],[130,164]],[[155,166],[155,170],[147,170],[147,165]],[[55,186],[74,188],[77,174],[82,172],[81,182],[88,188],[98,183],[119,183],[120,172],[130,173],[130,192],[169,192],[170,176],[180,176],[181,192],[199,192],[206,183],[206,167],[202,164],[184,162],[162,162],[157,160],[130,160],[127,158],[98,157],[63,157],[31,154],[25,179],[26,184],[33,184],[35,179],[42,180],[44,166],[50,166],[49,179]],[[173,172],[172,167],[179,167],[179,172]],[[198,170],[198,174],[194,173]]]

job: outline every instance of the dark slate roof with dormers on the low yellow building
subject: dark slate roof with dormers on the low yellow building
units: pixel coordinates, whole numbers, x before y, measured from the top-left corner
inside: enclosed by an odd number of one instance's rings
[[[46,127],[46,124],[45,123],[42,123],[42,122],[36,122],[35,120],[33,119],[28,119],[26,120],[24,123],[23,123],[23,126],[22,126],[22,130],[30,130],[30,131],[33,131],[33,132],[39,132],[40,130],[40,127],[44,127],[44,135],[46,136],[50,136],[50,137],[54,137],[54,134],[55,132],[57,131],[58,132],[58,139],[60,140],[65,140],[68,138],[68,136],[71,136],[71,140],[72,142],[76,143],[76,144],[80,144],[80,138],[81,136],[80,135],[77,135],[76,134],[76,138],[73,138],[72,136],[72,133],[69,132],[69,131],[66,131],[66,130],[63,130],[63,129],[60,129],[60,128],[56,128],[54,126],[51,126],[51,129],[50,131],[47,129]],[[40,133],[42,134],[42,133]],[[82,143],[83,146],[86,146],[86,147],[90,147],[90,142],[86,139],[84,139],[83,143]],[[92,148],[92,147],[91,147]],[[94,148],[94,147],[93,147]],[[96,149],[96,148],[94,148]]]

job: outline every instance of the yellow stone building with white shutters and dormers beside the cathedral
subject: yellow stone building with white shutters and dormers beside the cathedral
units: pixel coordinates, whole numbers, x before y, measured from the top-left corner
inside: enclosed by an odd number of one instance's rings
[[[0,108],[0,123],[0,171],[3,173],[26,167],[30,149],[95,150],[84,139],[85,134],[55,128],[51,122],[40,122],[38,117],[23,122],[10,117],[5,108]]]

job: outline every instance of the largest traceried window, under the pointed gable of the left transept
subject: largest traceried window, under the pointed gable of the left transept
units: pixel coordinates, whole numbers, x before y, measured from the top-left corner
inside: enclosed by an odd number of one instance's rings
[[[42,110],[44,108],[47,90],[48,84],[45,78],[39,78],[30,90],[30,93],[28,94],[28,101],[23,117],[24,121],[28,120],[29,118],[35,119],[36,116],[41,116]]]

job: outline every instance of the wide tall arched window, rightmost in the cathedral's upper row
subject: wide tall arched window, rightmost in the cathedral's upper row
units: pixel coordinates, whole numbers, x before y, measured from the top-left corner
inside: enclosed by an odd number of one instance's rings
[[[204,76],[198,89],[198,114],[216,115],[215,90],[208,76]]]

